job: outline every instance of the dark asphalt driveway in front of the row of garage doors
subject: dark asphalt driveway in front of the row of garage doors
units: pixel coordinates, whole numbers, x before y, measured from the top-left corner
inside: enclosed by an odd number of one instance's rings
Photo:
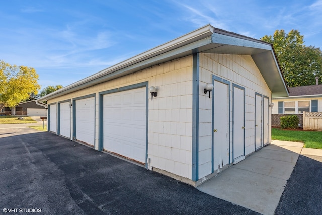
[[[0,214],[35,208],[41,214],[256,214],[66,138],[29,129],[0,131]]]

